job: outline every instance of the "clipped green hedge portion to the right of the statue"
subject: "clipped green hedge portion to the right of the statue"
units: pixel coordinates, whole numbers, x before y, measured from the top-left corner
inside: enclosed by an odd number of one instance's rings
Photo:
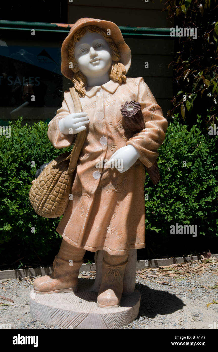
[[[170,123],[158,157],[162,180],[157,186],[148,177],[145,182],[146,238],[153,249],[159,243],[169,244],[169,239],[174,252],[184,241],[190,249],[189,235],[170,234],[170,226],[176,223],[198,226],[196,247],[199,236],[207,240],[218,236],[217,140],[218,136],[203,134],[197,125],[188,131],[177,120]]]

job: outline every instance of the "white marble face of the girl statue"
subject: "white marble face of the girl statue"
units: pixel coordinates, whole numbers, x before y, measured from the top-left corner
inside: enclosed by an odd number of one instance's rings
[[[75,44],[74,56],[80,71],[87,78],[103,76],[111,68],[110,46],[98,33],[87,32]]]

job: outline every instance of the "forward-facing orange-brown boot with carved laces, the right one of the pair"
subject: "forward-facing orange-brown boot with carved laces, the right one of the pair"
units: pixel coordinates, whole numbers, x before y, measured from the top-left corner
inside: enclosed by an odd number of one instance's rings
[[[127,255],[128,256],[128,255]],[[98,293],[98,306],[101,308],[117,308],[120,305],[121,296],[123,294],[123,279],[127,265],[127,256],[123,256],[123,262],[120,263],[120,257],[113,257],[112,263],[108,263],[103,259],[101,286]],[[111,261],[111,260],[110,260]]]

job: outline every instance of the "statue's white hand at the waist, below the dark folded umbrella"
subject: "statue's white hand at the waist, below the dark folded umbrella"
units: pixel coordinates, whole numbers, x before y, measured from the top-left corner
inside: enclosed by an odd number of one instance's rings
[[[126,145],[113,153],[104,167],[114,167],[120,173],[123,173],[130,169],[139,157],[140,154],[135,147],[132,145]]]

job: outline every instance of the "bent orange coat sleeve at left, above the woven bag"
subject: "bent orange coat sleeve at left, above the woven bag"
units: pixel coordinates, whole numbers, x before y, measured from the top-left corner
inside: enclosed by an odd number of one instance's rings
[[[71,113],[65,98],[61,108],[57,111],[57,115],[48,124],[48,139],[57,149],[69,147],[75,140],[75,134],[66,135],[61,133],[59,129],[59,120]]]

